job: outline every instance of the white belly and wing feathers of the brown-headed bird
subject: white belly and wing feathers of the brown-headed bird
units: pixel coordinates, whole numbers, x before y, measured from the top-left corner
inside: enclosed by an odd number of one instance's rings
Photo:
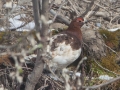
[[[51,45],[58,36],[63,36],[67,34],[55,35],[49,39],[49,44],[47,45],[47,52],[52,56],[52,60],[49,63],[51,68],[64,68],[74,62],[81,54],[81,48],[73,50],[70,44],[66,44],[65,41],[61,43],[56,43],[57,48],[51,51]]]

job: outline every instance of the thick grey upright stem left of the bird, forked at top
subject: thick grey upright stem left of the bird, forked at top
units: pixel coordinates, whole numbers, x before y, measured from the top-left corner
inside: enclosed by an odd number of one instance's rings
[[[44,67],[44,56],[42,56],[45,52],[46,52],[46,41],[47,41],[47,29],[48,26],[46,25],[45,21],[43,21],[42,19],[42,15],[44,15],[44,17],[46,18],[46,20],[48,19],[47,16],[47,12],[48,12],[48,0],[43,0],[43,2],[41,3],[41,7],[42,10],[39,8],[38,6],[38,0],[33,0],[33,8],[34,8],[34,20],[36,23],[36,30],[37,32],[40,33],[41,36],[41,42],[43,45],[42,50],[38,49],[37,52],[37,59],[35,62],[35,67],[33,69],[33,71],[31,72],[31,74],[28,76],[28,80],[26,82],[26,87],[25,90],[34,90],[35,85],[38,83],[39,78],[41,77],[42,71],[43,71],[43,67]],[[41,20],[42,20],[42,28],[40,27],[40,23],[39,23],[39,11],[41,10]],[[36,16],[35,16],[36,15]]]

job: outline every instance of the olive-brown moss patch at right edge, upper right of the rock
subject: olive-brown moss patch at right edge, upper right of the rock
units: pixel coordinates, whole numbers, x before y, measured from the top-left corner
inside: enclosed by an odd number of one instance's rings
[[[118,38],[118,32],[110,32],[105,29],[100,29],[99,33],[103,36],[103,39],[111,48],[118,48],[119,45],[119,38]]]

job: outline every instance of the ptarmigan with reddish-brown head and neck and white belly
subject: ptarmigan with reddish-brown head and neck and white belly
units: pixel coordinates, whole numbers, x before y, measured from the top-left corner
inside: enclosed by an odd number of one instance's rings
[[[52,71],[66,68],[74,62],[82,51],[82,17],[73,19],[66,30],[52,36],[47,44],[47,53],[52,57],[49,67]]]

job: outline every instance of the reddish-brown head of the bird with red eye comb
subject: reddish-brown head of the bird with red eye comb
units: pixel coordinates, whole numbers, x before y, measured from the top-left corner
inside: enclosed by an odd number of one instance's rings
[[[70,26],[81,28],[84,25],[84,23],[85,21],[82,17],[77,17],[70,23]]]

